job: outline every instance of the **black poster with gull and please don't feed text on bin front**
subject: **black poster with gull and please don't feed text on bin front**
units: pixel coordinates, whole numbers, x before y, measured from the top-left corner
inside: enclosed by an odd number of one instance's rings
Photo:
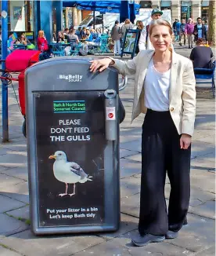
[[[34,93],[39,226],[104,222],[102,91]]]

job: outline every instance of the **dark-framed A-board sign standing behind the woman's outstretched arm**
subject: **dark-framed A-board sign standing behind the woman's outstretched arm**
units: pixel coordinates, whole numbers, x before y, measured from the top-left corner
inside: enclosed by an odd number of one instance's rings
[[[138,29],[127,29],[124,35],[123,49],[121,57],[124,53],[131,54],[131,58],[135,56],[135,48],[138,41],[139,30]]]

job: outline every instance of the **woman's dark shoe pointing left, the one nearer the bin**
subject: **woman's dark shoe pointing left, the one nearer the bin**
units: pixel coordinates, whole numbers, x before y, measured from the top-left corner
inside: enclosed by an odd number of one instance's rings
[[[160,243],[165,240],[165,236],[154,236],[151,234],[146,234],[144,236],[137,235],[131,241],[137,247],[143,247],[149,243]]]

